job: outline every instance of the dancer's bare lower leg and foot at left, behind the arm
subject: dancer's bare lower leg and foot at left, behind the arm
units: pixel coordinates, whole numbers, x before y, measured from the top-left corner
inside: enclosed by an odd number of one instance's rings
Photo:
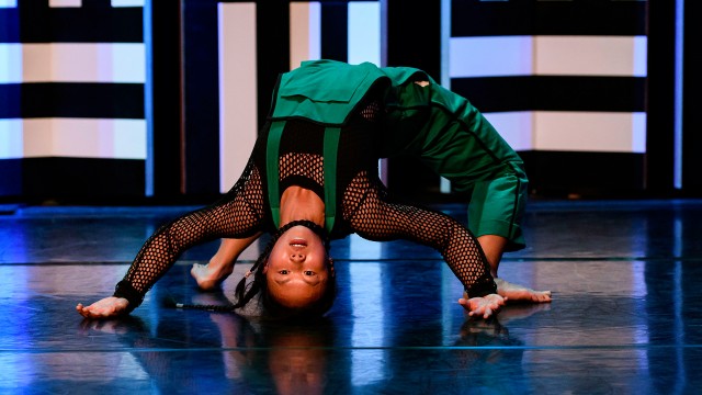
[[[256,240],[260,234],[245,239],[223,239],[217,252],[207,264],[193,264],[190,274],[203,291],[219,286],[234,271],[234,263],[239,255]]]

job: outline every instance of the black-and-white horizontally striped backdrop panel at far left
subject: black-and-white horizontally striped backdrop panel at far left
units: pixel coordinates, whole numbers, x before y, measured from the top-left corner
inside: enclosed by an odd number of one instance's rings
[[[0,3],[0,195],[143,194],[138,1]]]

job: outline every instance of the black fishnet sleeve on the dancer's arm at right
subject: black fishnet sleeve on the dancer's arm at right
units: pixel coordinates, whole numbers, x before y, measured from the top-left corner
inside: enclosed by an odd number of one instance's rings
[[[369,182],[367,185],[364,185]],[[367,187],[367,188],[366,188]],[[362,194],[353,190],[364,191]],[[390,203],[370,181],[356,180],[349,200],[360,200],[351,218],[359,236],[371,240],[408,239],[438,250],[469,297],[497,293],[483,249],[473,234],[452,217],[428,208]]]

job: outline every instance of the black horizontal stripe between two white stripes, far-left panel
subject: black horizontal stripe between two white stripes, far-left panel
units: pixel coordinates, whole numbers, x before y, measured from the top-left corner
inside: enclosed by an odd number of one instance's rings
[[[31,82],[0,84],[0,119],[144,119],[144,84]]]

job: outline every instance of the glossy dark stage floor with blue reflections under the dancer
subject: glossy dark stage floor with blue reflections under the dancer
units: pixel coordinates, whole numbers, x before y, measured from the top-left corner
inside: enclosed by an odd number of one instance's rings
[[[460,205],[437,206],[465,219]],[[281,325],[179,311],[223,303],[189,275],[197,247],[131,317],[83,321],[141,242],[193,207],[0,206],[1,394],[700,394],[702,201],[531,202],[529,248],[500,275],[546,305],[467,319],[441,258],[408,242],[332,242],[327,319]],[[235,280],[236,279],[236,280]]]

